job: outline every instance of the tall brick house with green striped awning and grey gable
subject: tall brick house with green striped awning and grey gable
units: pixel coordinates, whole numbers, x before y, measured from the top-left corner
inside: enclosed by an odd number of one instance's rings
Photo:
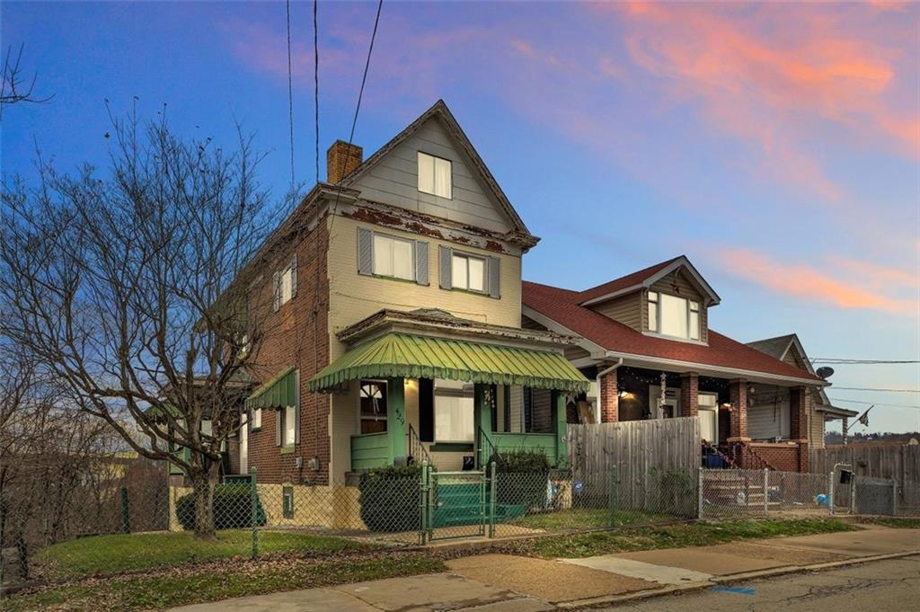
[[[564,356],[573,339],[521,327],[537,240],[442,101],[366,160],[333,144],[327,182],[250,271],[264,337],[239,471],[334,496],[353,473],[422,458],[470,468],[513,447],[564,462],[566,397],[589,381]]]

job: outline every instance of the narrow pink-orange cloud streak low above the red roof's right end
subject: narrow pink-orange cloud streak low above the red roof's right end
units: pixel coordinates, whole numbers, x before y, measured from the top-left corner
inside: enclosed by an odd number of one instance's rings
[[[776,260],[747,248],[721,249],[716,257],[721,267],[732,275],[801,301],[913,317],[920,314],[916,279],[908,271],[848,260],[829,272],[809,264]],[[872,282],[872,279],[879,281],[880,276],[884,283]],[[903,286],[914,288],[913,297],[896,295],[897,289]]]

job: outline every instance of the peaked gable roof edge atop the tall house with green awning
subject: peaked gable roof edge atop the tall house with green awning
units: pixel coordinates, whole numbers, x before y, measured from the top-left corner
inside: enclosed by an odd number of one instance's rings
[[[460,152],[466,156],[472,167],[477,171],[487,192],[498,202],[501,211],[508,216],[513,228],[511,233],[518,235],[520,241],[528,242],[530,243],[529,246],[533,247],[539,238],[531,234],[530,230],[527,229],[527,225],[524,225],[523,219],[517,214],[517,211],[514,210],[512,202],[508,200],[505,192],[501,191],[498,181],[492,176],[489,167],[486,166],[482,157],[479,156],[476,148],[470,142],[463,128],[460,127],[460,124],[457,123],[453,113],[447,108],[447,104],[444,103],[443,99],[439,99],[435,102],[429,110],[421,113],[418,119],[409,123],[402,132],[397,133],[388,143],[377,149],[374,155],[365,159],[360,166],[352,170],[351,174],[341,179],[340,185],[344,187],[352,185],[357,179],[360,179],[366,174],[371,167],[374,167],[377,162],[383,159],[384,156],[396,149],[400,144],[403,144],[412,134],[418,132],[422,125],[431,119],[442,121],[447,135],[453,139],[454,144],[460,148]]]

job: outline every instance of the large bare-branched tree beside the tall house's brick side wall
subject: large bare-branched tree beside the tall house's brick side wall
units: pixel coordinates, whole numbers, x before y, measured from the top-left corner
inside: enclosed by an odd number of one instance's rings
[[[165,114],[113,118],[105,173],[69,176],[40,161],[37,187],[6,186],[0,329],[60,381],[68,406],[182,468],[196,535],[213,537],[221,448],[239,427],[264,333],[252,313],[266,309],[248,301],[259,281],[251,259],[280,209],[239,126],[227,152],[179,138]]]

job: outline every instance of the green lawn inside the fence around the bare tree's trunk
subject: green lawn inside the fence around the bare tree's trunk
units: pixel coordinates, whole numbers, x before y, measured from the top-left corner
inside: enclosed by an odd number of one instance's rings
[[[293,551],[328,554],[369,548],[341,537],[259,532],[259,554]],[[252,532],[249,530],[219,531],[213,541],[196,539],[190,532],[157,532],[80,537],[41,550],[32,562],[54,576],[86,576],[137,572],[236,556],[248,558],[251,552]]]

